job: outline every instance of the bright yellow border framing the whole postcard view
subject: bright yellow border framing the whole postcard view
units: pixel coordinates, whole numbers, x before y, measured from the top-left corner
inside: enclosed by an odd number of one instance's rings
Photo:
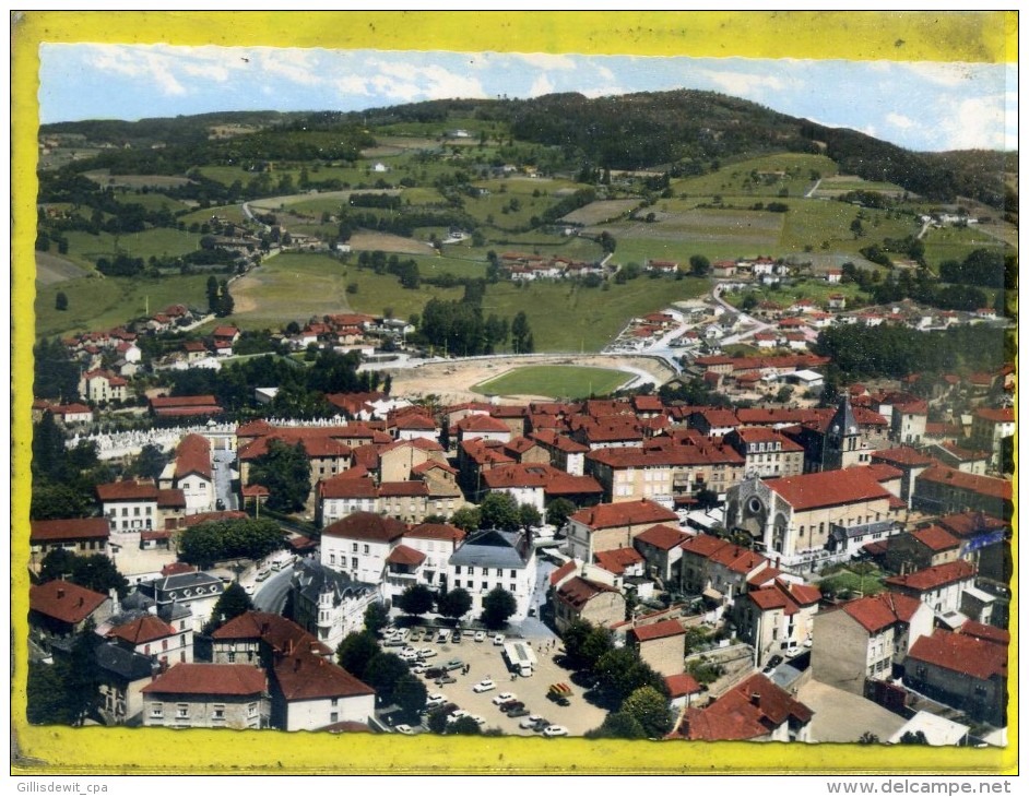
[[[1015,11],[12,12],[12,773],[1017,773],[1016,699],[1004,750],[201,730],[190,731],[189,744],[182,745],[182,736],[169,730],[29,726],[24,721],[28,582],[23,564],[28,558],[40,43],[1015,63],[1017,26]],[[1012,609],[1014,630],[1014,602]],[[1012,650],[1014,656],[1017,637]],[[1012,667],[1013,695],[1017,685],[1017,667]]]

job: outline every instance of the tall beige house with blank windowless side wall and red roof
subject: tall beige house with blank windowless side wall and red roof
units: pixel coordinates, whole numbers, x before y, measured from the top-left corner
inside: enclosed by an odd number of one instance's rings
[[[865,681],[902,671],[915,640],[932,633],[933,610],[891,592],[868,595],[815,615],[811,666],[823,683],[864,695]]]

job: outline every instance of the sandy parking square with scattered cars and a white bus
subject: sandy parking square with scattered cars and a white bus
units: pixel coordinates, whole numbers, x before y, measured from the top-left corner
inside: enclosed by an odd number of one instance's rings
[[[493,644],[493,634],[484,642],[475,642],[470,637],[463,637],[457,644],[452,642],[440,644],[426,640],[409,644],[416,649],[429,647],[437,652],[436,656],[427,661],[429,667],[441,666],[456,658],[470,666],[468,675],[463,674],[463,669],[449,673],[456,679],[454,683],[437,686],[431,680],[427,680],[426,687],[429,694],[441,692],[459,709],[485,718],[484,730],[499,728],[506,735],[536,735],[530,729],[518,726],[523,717],[508,717],[493,703],[493,699],[502,692],[512,692],[518,700],[524,702],[530,714],[540,714],[554,725],[564,725],[571,736],[581,736],[587,730],[598,727],[604,721],[605,712],[587,703],[582,699],[582,690],[569,680],[570,673],[554,663],[554,654],[560,642],[551,633],[545,637],[529,638],[525,641],[532,644],[537,665],[531,677],[519,676],[513,680],[504,659],[504,647]],[[496,683],[496,688],[482,693],[474,692],[473,687],[486,678],[490,678]],[[571,686],[573,695],[570,699],[570,705],[559,706],[547,700],[548,688],[556,682]]]

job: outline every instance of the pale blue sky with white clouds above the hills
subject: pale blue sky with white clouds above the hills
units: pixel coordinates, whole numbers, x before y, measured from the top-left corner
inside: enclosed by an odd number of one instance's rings
[[[699,88],[916,151],[1015,150],[1017,64],[43,44],[40,122]]]

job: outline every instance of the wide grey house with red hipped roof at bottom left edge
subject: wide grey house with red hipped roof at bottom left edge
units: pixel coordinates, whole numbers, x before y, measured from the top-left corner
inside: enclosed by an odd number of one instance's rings
[[[143,727],[256,730],[270,725],[268,677],[247,664],[177,664],[142,693]]]

